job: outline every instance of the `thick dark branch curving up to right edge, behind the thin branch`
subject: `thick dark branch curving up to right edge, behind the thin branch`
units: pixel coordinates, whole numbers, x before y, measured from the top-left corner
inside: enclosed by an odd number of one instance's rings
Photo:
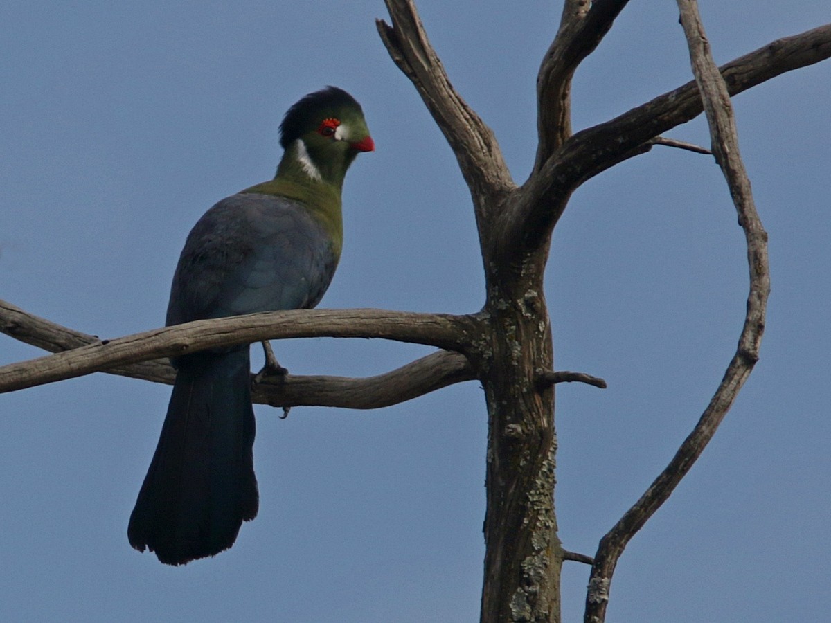
[[[720,67],[731,96],[786,71],[831,56],[831,24],[784,37]],[[701,114],[695,81],[657,96],[615,119],[581,130],[566,140],[538,173],[518,189],[520,198],[506,210],[500,231],[504,253],[525,252],[545,243],[568,198],[587,179],[652,149],[652,139]],[[514,251],[511,251],[514,249]]]

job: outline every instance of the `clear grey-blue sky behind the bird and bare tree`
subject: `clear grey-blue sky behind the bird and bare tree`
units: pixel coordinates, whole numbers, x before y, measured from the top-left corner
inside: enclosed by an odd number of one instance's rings
[[[518,182],[560,2],[419,2],[455,86]],[[829,21],[827,0],[702,0],[717,61]],[[470,195],[376,35],[378,2],[0,5],[0,298],[101,337],[164,322],[184,237],[269,179],[278,123],[342,86],[377,150],[344,191],[346,243],[322,307],[475,312]],[[632,2],[578,72],[576,128],[689,80],[674,2]],[[820,621],[831,611],[831,64],[735,99],[773,292],[761,361],[711,447],[617,567],[609,621]],[[707,144],[696,120],[671,136]],[[554,235],[557,505],[597,541],[671,459],[735,349],[744,243],[711,158],[657,147],[590,181]],[[429,352],[275,344],[293,373],[368,375]],[[0,363],[38,356],[0,336]],[[233,549],[187,567],[133,551],[127,519],[170,388],[96,374],[0,396],[5,621],[475,621],[484,545],[479,385],[386,410],[257,407],[261,508]],[[563,573],[565,621],[588,567]]]

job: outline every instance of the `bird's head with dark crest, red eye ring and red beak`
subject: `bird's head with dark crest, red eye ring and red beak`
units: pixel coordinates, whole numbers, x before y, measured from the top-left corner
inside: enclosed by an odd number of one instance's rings
[[[286,153],[278,176],[307,176],[337,189],[356,155],[375,150],[361,105],[336,86],[309,93],[288,109],[280,145]]]

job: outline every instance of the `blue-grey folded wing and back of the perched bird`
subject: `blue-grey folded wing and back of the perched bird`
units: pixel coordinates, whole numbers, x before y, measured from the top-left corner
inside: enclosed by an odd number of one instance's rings
[[[210,208],[179,257],[167,324],[314,307],[337,266],[332,239],[295,201],[235,194]]]

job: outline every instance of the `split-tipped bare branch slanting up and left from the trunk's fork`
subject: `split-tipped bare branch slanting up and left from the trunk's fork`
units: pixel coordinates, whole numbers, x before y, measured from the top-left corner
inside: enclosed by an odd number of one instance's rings
[[[376,20],[378,33],[396,65],[410,79],[459,161],[473,194],[477,221],[495,197],[515,188],[493,130],[450,84],[411,0],[386,0],[392,26]],[[481,224],[479,224],[481,233]]]

